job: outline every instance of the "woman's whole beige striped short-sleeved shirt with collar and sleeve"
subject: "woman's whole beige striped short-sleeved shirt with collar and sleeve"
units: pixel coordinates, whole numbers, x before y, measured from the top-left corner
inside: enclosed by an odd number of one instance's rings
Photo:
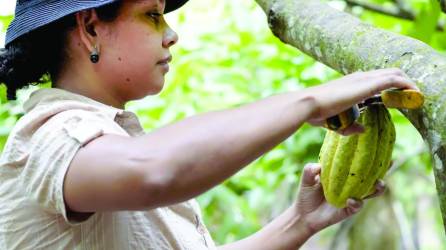
[[[41,89],[25,103],[0,158],[0,249],[214,249],[195,200],[69,221],[63,181],[82,146],[140,136],[138,118],[84,96]]]

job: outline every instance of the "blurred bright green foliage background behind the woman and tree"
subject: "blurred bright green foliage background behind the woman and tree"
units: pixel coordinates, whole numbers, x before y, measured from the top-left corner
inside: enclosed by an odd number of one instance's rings
[[[441,53],[446,51],[446,18],[436,0],[327,2],[365,22],[420,39]],[[13,9],[13,0],[1,0],[0,47]],[[405,13],[406,19],[413,20],[390,17],[389,13],[401,17]],[[165,88],[160,95],[127,107],[138,114],[146,131],[197,113],[236,107],[340,76],[275,38],[254,1],[192,0],[167,19],[180,41],[172,51],[174,60]],[[21,105],[36,88],[21,91],[15,102],[7,102],[4,87],[0,88],[0,148],[22,115]],[[400,232],[400,249],[446,249],[427,147],[404,116],[395,110],[391,113],[397,141],[394,166],[386,177],[386,197],[390,197],[386,209],[394,213],[392,223]],[[295,200],[303,166],[317,161],[324,134],[324,129],[304,125],[233,178],[198,197],[214,240],[223,244],[246,237],[287,208]],[[373,218],[380,209],[372,209],[366,217]],[[380,226],[388,227],[385,222]],[[341,239],[340,228],[327,228],[302,249],[328,249]],[[363,234],[369,235],[366,231]]]

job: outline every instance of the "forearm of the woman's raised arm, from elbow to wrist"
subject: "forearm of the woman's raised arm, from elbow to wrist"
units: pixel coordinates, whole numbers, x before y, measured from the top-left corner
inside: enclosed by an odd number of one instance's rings
[[[190,117],[139,138],[144,154],[156,150],[170,180],[163,197],[195,197],[293,134],[315,110],[302,92],[272,96],[230,110]]]

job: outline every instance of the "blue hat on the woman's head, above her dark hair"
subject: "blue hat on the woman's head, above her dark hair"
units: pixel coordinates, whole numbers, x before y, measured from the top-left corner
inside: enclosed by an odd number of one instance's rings
[[[37,28],[77,11],[97,8],[117,0],[17,0],[15,16],[6,32],[6,45]],[[188,0],[166,0],[164,13],[174,11]],[[5,46],[6,46],[5,45]]]

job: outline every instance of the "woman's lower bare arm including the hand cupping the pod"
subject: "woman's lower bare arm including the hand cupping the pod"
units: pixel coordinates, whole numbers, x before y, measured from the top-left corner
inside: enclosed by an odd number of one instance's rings
[[[320,182],[320,171],[319,164],[307,164],[301,175],[299,195],[295,203],[257,233],[218,249],[298,249],[315,233],[357,213],[362,207],[362,201],[349,199],[345,208],[335,208],[327,203]],[[375,193],[366,199],[384,193],[382,181],[378,181],[375,187]]]

